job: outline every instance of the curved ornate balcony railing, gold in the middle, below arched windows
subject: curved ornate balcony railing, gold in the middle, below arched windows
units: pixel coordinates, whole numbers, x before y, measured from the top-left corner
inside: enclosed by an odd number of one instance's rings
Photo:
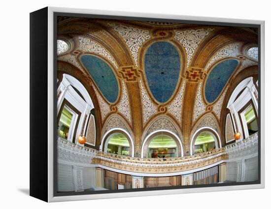
[[[258,153],[258,132],[218,150],[178,158],[136,158],[81,147],[58,138],[58,160],[74,165],[103,165],[133,172],[179,172],[206,167]]]

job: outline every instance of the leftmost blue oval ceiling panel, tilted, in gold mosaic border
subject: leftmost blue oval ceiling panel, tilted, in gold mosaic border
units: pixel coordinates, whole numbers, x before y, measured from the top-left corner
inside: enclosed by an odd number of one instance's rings
[[[81,62],[99,87],[103,96],[109,102],[114,103],[118,98],[119,87],[115,74],[109,65],[102,59],[92,55],[83,55]]]

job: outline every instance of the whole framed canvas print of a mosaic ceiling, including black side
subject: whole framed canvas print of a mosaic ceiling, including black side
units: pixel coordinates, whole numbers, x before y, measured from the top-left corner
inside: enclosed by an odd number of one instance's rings
[[[264,21],[30,14],[30,194],[264,187]]]

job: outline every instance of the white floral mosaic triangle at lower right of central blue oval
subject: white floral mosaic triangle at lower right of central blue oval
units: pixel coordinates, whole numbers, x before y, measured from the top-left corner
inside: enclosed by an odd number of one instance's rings
[[[185,86],[185,80],[182,83],[182,87],[174,99],[174,101],[168,106],[168,111],[171,113],[179,123],[181,123],[181,113],[182,113],[182,100],[183,100],[183,91]]]

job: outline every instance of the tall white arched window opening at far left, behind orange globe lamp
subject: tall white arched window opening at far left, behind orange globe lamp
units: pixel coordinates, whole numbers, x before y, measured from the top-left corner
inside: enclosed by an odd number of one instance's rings
[[[59,137],[77,144],[77,137],[83,134],[85,146],[96,146],[94,105],[87,89],[74,77],[63,74],[57,95]]]

